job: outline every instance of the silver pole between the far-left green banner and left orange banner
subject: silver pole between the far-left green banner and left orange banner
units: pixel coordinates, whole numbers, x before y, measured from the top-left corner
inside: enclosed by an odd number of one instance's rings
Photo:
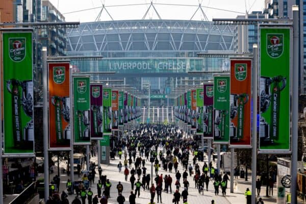
[[[47,69],[47,48],[42,48],[43,62],[43,157],[44,157],[44,198],[49,198],[49,156],[48,156],[48,69]],[[2,174],[1,174],[2,175]],[[1,183],[1,182],[0,182]]]

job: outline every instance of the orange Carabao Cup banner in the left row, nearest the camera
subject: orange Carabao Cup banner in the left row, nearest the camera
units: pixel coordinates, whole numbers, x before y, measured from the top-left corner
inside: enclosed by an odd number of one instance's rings
[[[70,149],[69,62],[49,62],[49,149]]]

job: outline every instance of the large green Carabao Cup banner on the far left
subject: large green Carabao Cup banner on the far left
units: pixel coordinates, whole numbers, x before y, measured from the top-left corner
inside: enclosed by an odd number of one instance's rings
[[[3,32],[4,154],[34,154],[32,29]]]

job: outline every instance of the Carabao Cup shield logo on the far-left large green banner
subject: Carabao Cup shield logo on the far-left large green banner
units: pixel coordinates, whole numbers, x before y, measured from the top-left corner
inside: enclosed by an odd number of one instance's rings
[[[25,57],[25,38],[9,38],[9,54],[14,62],[21,62]]]

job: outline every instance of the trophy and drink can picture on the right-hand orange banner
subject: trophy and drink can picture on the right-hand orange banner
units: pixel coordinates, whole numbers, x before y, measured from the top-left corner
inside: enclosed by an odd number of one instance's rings
[[[244,105],[248,101],[248,94],[231,94],[230,103],[231,103],[231,120],[236,116],[237,127],[233,122],[230,123],[230,138],[231,140],[239,141],[243,138],[243,120],[244,120]]]

